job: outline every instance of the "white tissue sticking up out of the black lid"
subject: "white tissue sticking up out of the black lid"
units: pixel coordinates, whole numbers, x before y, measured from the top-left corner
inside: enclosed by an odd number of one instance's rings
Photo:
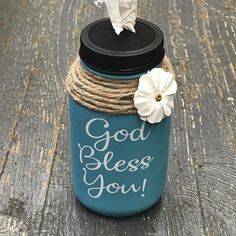
[[[98,7],[106,4],[116,34],[119,35],[123,28],[135,33],[138,0],[96,0],[94,3]]]

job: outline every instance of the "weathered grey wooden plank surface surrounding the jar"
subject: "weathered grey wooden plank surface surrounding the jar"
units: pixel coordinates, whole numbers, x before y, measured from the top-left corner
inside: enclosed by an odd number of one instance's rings
[[[179,85],[168,182],[135,217],[99,216],[71,188],[64,79],[92,0],[0,0],[0,235],[236,235],[236,2],[140,0]]]

